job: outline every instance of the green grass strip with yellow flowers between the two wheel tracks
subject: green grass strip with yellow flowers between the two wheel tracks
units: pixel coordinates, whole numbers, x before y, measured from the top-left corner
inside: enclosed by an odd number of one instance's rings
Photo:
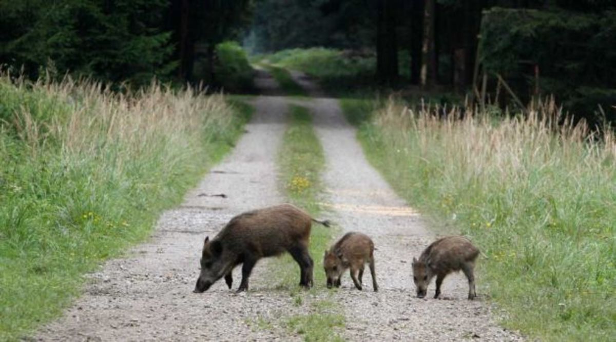
[[[318,217],[322,212],[318,196],[323,190],[320,172],[325,167],[325,156],[312,128],[312,116],[302,106],[291,106],[291,122],[283,137],[278,165],[280,180],[290,202]],[[315,263],[314,288],[309,293],[326,290],[323,251],[330,247],[334,233],[334,228],[312,225],[310,255]],[[307,293],[298,287],[298,264],[285,256],[276,267],[280,287],[290,290],[295,305],[306,305]],[[334,308],[328,300],[315,301],[310,304],[310,314],[288,317],[284,323],[288,330],[304,336],[306,341],[339,341],[340,337],[333,328],[344,327],[344,316]]]

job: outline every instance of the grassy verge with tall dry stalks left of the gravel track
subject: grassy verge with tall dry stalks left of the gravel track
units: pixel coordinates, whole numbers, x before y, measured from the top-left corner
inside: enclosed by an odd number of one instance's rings
[[[7,78],[0,103],[2,341],[58,317],[84,273],[147,237],[250,114],[190,91]]]

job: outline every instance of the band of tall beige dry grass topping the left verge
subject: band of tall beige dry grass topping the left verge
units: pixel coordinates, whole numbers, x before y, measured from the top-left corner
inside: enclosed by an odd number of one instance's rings
[[[178,91],[157,82],[137,92],[115,93],[102,83],[71,78],[29,84],[4,76],[2,81],[4,87],[12,83],[17,92],[46,94],[14,110],[12,122],[6,120],[33,147],[52,138],[63,149],[81,153],[95,152],[101,141],[138,149],[160,137],[200,134],[200,127],[229,124],[233,117],[222,95],[206,96],[193,88]]]

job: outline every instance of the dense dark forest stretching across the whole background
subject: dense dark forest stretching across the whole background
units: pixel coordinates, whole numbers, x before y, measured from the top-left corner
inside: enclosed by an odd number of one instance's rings
[[[233,77],[219,58],[233,49],[218,47],[229,40],[251,54],[322,46],[373,57],[381,85],[502,93],[501,105],[557,94],[582,116],[616,118],[616,71],[609,67],[616,65],[616,4],[609,0],[0,4],[0,63],[31,78],[68,72],[142,85],[156,76],[215,87]],[[249,87],[226,83],[232,91]]]

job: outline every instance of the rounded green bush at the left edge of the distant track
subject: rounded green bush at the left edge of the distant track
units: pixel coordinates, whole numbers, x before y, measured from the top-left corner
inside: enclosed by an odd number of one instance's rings
[[[222,42],[216,46],[216,79],[225,92],[251,92],[254,70],[246,52],[237,42]]]

